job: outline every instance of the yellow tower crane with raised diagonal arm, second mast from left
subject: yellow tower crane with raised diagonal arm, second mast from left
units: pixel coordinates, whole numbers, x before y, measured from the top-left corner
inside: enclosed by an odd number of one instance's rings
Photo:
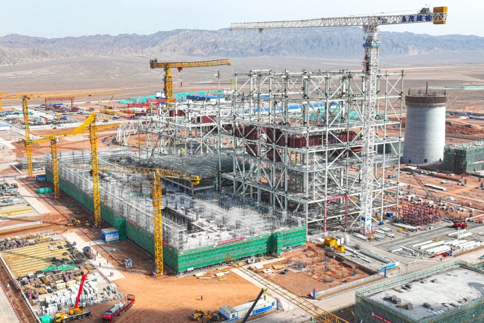
[[[32,145],[34,143],[38,142],[46,142],[50,141],[50,154],[52,157],[52,173],[53,173],[53,178],[54,178],[54,199],[59,199],[60,197],[60,187],[59,187],[59,163],[57,161],[57,142],[59,141],[59,138],[64,138],[64,137],[71,137],[71,136],[77,136],[82,133],[88,133],[89,129],[87,127],[89,124],[91,124],[95,120],[95,113],[92,113],[89,117],[80,124],[79,127],[75,128],[74,130],[71,131],[64,131],[64,132],[59,132],[59,133],[52,133],[47,136],[42,136],[41,138],[35,139],[35,140],[29,140],[26,142],[29,145]],[[122,123],[111,123],[111,124],[102,124],[100,126],[96,126],[97,130],[102,130],[102,129],[109,129],[113,127],[118,127]]]

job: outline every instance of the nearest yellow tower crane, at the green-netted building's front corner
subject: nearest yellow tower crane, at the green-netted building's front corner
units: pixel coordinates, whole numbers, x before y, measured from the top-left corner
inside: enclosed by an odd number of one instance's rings
[[[82,165],[74,166],[74,168],[82,167]],[[173,169],[158,169],[158,168],[145,168],[134,166],[120,166],[120,165],[97,165],[97,170],[94,172],[93,165],[93,183],[95,181],[94,176],[97,177],[95,182],[97,185],[97,192],[99,192],[99,172],[111,172],[111,173],[124,173],[124,174],[138,174],[147,176],[151,181],[151,198],[153,199],[153,235],[154,235],[154,247],[155,247],[155,276],[160,276],[164,273],[163,270],[163,226],[162,226],[162,185],[161,178],[178,178],[186,181],[190,181],[192,185],[198,185],[200,183],[200,176],[189,175],[185,171],[173,170]],[[95,201],[94,204],[100,205],[100,201]],[[99,214],[100,214],[100,208]],[[95,210],[96,212],[96,210]],[[100,219],[100,218],[99,218]]]

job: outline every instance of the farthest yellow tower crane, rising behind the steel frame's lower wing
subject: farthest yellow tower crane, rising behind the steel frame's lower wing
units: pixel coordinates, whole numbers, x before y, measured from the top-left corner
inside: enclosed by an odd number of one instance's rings
[[[164,62],[158,63],[157,59],[149,60],[150,68],[165,68],[165,84],[163,85],[163,91],[167,97],[167,107],[171,107],[173,102],[173,77],[171,77],[170,68],[178,68],[181,71],[185,67],[204,67],[204,66],[218,66],[218,65],[230,65],[230,59],[214,59],[211,61],[201,62]]]

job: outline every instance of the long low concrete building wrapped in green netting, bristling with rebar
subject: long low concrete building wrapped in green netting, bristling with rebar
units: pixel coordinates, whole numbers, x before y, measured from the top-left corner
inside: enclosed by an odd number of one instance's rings
[[[124,148],[100,151],[98,156],[103,165],[139,165],[138,154]],[[90,151],[63,152],[59,177],[61,190],[93,212],[90,160]],[[53,181],[50,163],[46,176]],[[165,181],[163,186],[163,260],[171,272],[181,275],[232,259],[277,255],[306,241],[301,219],[266,205],[240,203],[212,192],[210,185],[198,192],[191,186],[189,181]],[[146,176],[100,172],[102,221],[118,229],[120,239],[130,239],[153,254],[151,190]]]

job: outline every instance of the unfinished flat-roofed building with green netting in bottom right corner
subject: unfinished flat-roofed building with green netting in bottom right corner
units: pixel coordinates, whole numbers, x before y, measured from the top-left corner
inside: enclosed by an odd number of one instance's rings
[[[451,261],[357,290],[355,322],[483,322],[483,265]]]

